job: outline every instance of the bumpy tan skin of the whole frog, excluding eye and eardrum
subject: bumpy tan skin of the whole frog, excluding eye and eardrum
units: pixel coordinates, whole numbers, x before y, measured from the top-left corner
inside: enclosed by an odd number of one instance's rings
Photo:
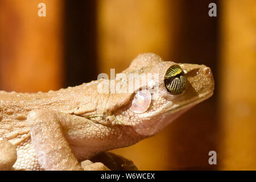
[[[0,168],[82,170],[86,168],[80,162],[99,152],[131,146],[158,133],[213,94],[210,68],[197,64],[178,64],[187,85],[179,95],[167,92],[164,75],[173,64],[177,63],[143,53],[122,72],[159,74],[155,82],[145,83],[151,88],[158,84],[159,92],[151,92],[154,99],[143,113],[130,109],[134,92],[99,93],[102,79],[48,93],[0,91]],[[16,162],[5,157],[15,148]]]

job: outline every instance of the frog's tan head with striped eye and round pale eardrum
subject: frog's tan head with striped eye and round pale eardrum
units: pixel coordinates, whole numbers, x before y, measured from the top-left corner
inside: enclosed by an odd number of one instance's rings
[[[139,55],[123,73],[151,73],[153,77],[146,81],[146,90],[142,90],[143,85],[135,90],[129,109],[125,111],[125,115],[129,115],[127,122],[138,134],[145,136],[158,133],[213,94],[210,68],[163,61],[154,53]]]

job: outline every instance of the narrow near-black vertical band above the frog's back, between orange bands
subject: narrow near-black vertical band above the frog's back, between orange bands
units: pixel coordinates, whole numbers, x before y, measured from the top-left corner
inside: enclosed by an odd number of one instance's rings
[[[97,78],[96,1],[65,0],[65,85]]]

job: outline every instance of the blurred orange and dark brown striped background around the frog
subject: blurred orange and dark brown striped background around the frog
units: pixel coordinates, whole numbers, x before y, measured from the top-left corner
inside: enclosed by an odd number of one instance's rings
[[[216,17],[208,15],[211,2]],[[0,90],[79,85],[110,68],[121,72],[143,52],[205,64],[213,97],[154,137],[113,152],[140,170],[255,170],[255,15],[253,0],[0,0]],[[208,163],[212,150],[216,165]]]

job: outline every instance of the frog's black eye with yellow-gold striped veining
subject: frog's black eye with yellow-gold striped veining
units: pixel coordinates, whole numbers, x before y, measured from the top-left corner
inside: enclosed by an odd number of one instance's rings
[[[164,84],[168,92],[172,95],[178,95],[183,92],[186,85],[186,76],[179,65],[172,65],[167,69],[164,76]]]

